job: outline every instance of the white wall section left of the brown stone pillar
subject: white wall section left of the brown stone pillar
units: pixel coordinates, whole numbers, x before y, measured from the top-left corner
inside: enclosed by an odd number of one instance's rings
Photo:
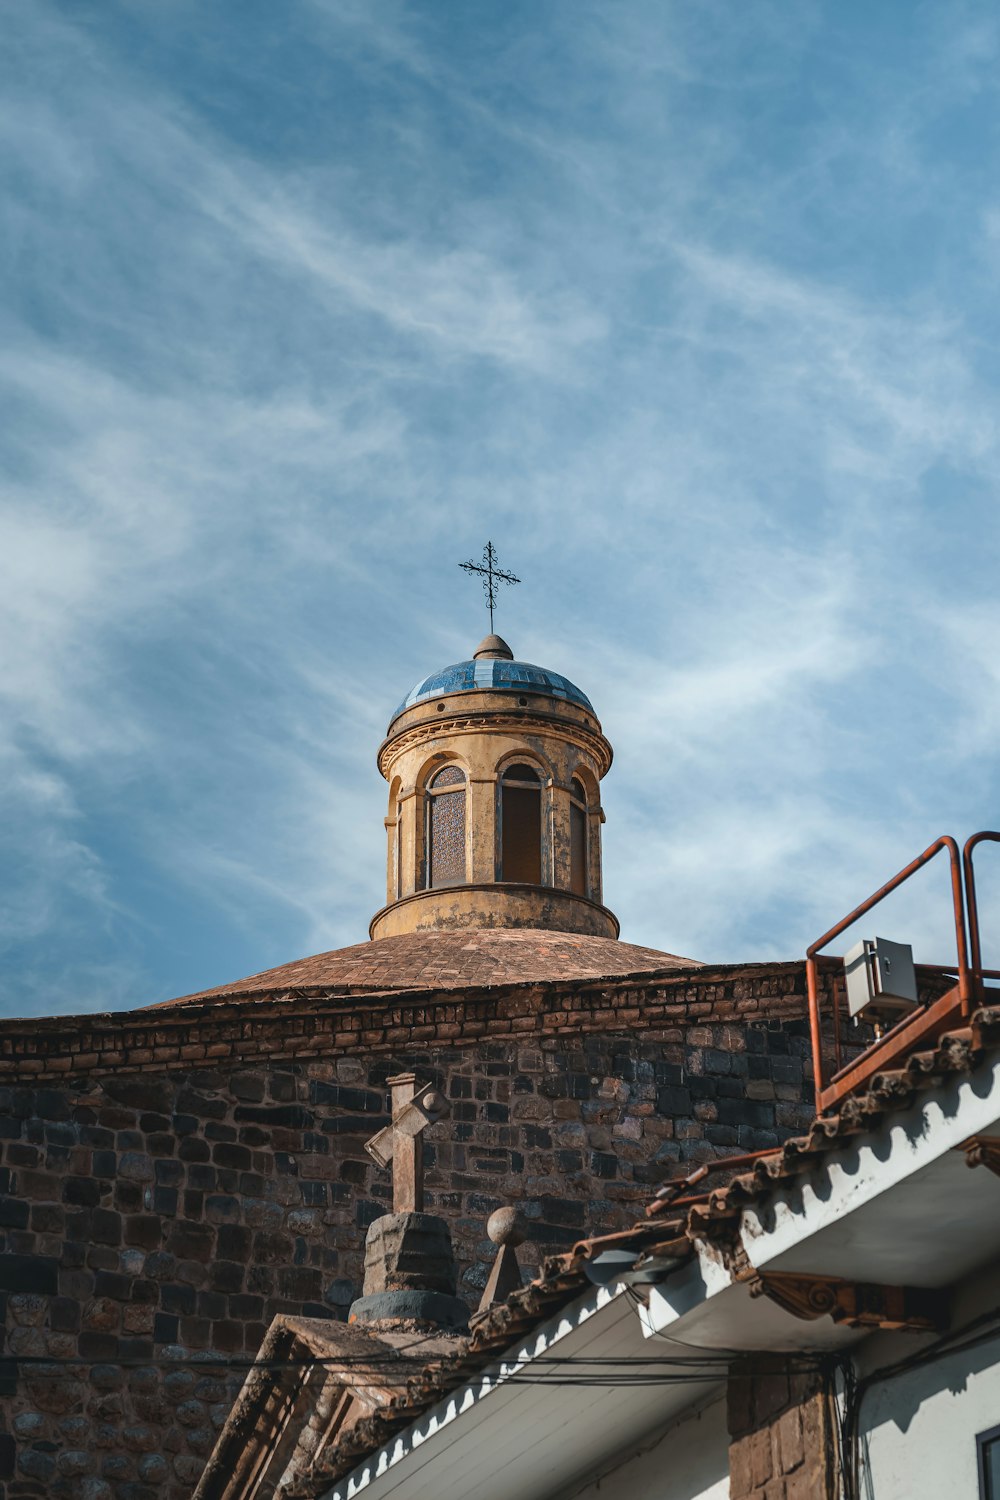
[[[726,1398],[651,1432],[630,1454],[553,1500],[729,1500]]]

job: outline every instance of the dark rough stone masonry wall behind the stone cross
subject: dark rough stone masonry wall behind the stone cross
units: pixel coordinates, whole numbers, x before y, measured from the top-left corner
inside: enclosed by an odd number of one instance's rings
[[[474,1305],[501,1203],[532,1226],[531,1270],[633,1222],[679,1162],[801,1131],[793,988],[775,984],[775,1018],[667,1022],[649,996],[637,1024],[606,1029],[615,1006],[592,988],[586,1024],[547,1034],[565,996],[541,987],[531,1034],[493,1041],[411,1030],[408,1046],[322,1056],[306,1029],[298,1058],[276,1060],[249,1040],[240,1060],[178,1065],[205,1044],[174,1040],[174,1068],[25,1082],[15,1065],[0,1084],[0,1500],[187,1500],[271,1317],[342,1318],[360,1292],[364,1232],[390,1200],[363,1148],[388,1122],[393,1072],[451,1100],[426,1137],[427,1209],[451,1222]],[[327,1008],[342,1024],[343,1002]],[[91,1026],[63,1032],[85,1044]]]

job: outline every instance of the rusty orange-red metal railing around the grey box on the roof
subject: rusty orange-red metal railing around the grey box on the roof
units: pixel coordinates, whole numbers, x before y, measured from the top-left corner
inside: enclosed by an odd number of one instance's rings
[[[807,948],[805,982],[810,1005],[810,1038],[813,1044],[813,1077],[816,1083],[817,1110],[822,1112],[846,1094],[850,1094],[852,1089],[858,1088],[862,1082],[865,1082],[865,1078],[871,1077],[877,1066],[883,1066],[889,1058],[897,1058],[901,1052],[909,1050],[919,1038],[928,1036],[936,1030],[940,1032],[955,1016],[961,1016],[963,1022],[967,1022],[975,1005],[982,1004],[984,980],[1000,978],[1000,970],[982,968],[982,946],[979,938],[979,910],[973,874],[973,850],[978,844],[987,842],[1000,843],[1000,832],[984,831],[973,834],[972,838],[967,840],[960,856],[957,842],[951,837],[951,834],[942,834],[942,837],[936,838],[934,843],[924,850],[924,854],[918,855],[916,860],[912,860],[906,868],[900,870],[898,874],[880,886],[880,890],[844,916],[843,921],[837,922],[835,927],[831,927],[828,933],[823,933],[822,938]],[[930,864],[930,861],[934,860],[942,850],[948,850],[951,868],[957,962],[951,966],[916,964],[916,968],[928,975],[954,976],[955,982],[948,987],[945,994],[900,1020],[891,1030],[865,1048],[847,1066],[841,1066],[841,1005],[835,990],[835,1072],[832,1077],[828,1077],[826,1059],[823,1054],[823,1017],[820,1011],[817,966],[820,951],[843,932],[852,927],[861,916],[883,902],[886,896],[895,891],[897,886],[903,885],[904,880],[909,880],[925,864]]]

